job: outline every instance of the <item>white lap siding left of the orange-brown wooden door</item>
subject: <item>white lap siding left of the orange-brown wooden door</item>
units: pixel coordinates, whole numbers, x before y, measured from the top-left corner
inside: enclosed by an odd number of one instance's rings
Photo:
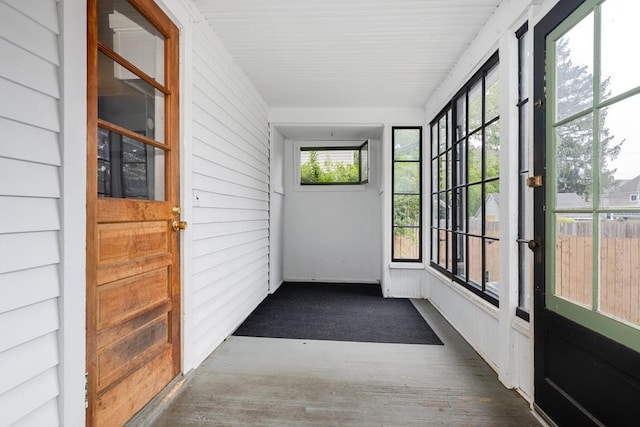
[[[58,425],[55,0],[0,0],[0,425]]]

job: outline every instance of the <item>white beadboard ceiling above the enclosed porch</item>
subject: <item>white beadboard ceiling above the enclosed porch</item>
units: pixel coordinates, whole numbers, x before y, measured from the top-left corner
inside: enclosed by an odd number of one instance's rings
[[[502,0],[194,0],[270,107],[422,107]]]

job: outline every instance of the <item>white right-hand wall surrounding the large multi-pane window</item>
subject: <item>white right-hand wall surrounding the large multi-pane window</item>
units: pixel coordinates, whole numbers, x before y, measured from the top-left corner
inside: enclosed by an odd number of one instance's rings
[[[549,10],[556,2],[505,0],[461,56],[449,77],[430,96],[425,107],[425,121],[429,122],[489,56],[499,50],[500,161],[503,165],[500,180],[500,308],[476,297],[431,268],[428,268],[426,288],[434,306],[497,371],[504,385],[518,389],[529,400],[533,400],[534,393],[533,319],[527,323],[515,315],[518,301],[518,163],[515,144],[518,140],[515,108],[518,70],[515,31],[528,21],[529,33],[533,35],[534,26],[543,11]],[[530,41],[532,39],[530,37]],[[532,84],[532,67],[529,74]],[[529,122],[532,122],[532,114]],[[429,209],[427,205],[426,218],[430,218]]]

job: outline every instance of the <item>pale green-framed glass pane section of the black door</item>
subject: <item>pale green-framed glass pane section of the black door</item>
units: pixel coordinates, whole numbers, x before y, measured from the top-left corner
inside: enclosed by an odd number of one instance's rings
[[[611,43],[635,28],[620,3],[587,0],[547,38],[546,305],[640,351],[640,80]]]

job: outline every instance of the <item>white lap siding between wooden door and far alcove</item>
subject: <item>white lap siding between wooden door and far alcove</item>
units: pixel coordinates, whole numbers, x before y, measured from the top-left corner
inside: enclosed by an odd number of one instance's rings
[[[215,31],[215,29],[213,29]],[[266,296],[268,107],[205,22],[193,39],[193,361]]]

